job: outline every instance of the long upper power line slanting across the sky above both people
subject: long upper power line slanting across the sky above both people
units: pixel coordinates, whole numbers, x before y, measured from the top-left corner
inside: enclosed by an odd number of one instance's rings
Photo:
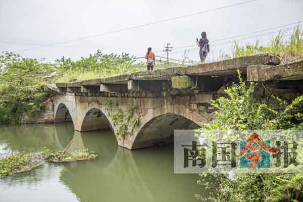
[[[251,3],[251,2],[256,2],[256,1],[259,1],[259,0],[249,0],[249,1],[241,2],[241,3],[237,3],[237,4],[231,4],[231,5],[215,8],[215,9],[208,9],[208,10],[201,11],[201,12],[196,12],[196,13],[191,13],[191,14],[187,14],[187,15],[183,15],[183,16],[168,18],[168,19],[165,19],[165,20],[159,20],[159,21],[150,22],[150,23],[146,23],[146,24],[135,25],[135,26],[131,26],[131,27],[128,27],[128,28],[123,28],[123,29],[118,29],[118,30],[111,31],[111,32],[98,33],[98,34],[94,34],[94,35],[91,35],[91,36],[79,37],[79,38],[66,40],[66,41],[62,41],[62,42],[58,42],[58,43],[52,43],[52,44],[40,45],[38,47],[33,47],[33,48],[22,49],[22,50],[19,50],[19,51],[16,51],[16,52],[25,52],[25,51],[30,51],[30,50],[33,50],[33,49],[40,49],[40,48],[43,48],[43,47],[50,47],[50,46],[70,43],[70,42],[73,42],[73,41],[84,40],[84,39],[88,39],[88,38],[92,38],[92,37],[96,37],[96,36],[104,36],[104,35],[118,33],[118,32],[122,32],[122,31],[130,30],[130,29],[136,29],[136,28],[140,28],[140,27],[146,27],[146,26],[150,26],[150,25],[160,24],[160,23],[164,23],[164,22],[178,20],[178,19],[181,19],[181,18],[187,18],[187,17],[195,16],[195,15],[201,15],[201,14],[209,13],[209,12],[212,12],[212,11],[227,9],[227,8],[231,8],[231,7],[234,7],[234,6],[239,6],[239,5],[243,5],[243,4],[247,4],[247,3]]]

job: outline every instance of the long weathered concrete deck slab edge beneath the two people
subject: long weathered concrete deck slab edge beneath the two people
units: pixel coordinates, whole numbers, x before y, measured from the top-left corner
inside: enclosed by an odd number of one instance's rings
[[[278,65],[280,62],[281,61],[276,55],[261,54],[233,58],[214,63],[203,63],[186,67],[165,68],[157,69],[155,71],[134,72],[107,78],[90,79],[81,81],[81,85],[89,86],[100,84],[127,84],[127,81],[129,80],[161,80],[161,78],[163,78],[163,80],[167,80],[168,77],[179,75],[219,75],[224,73],[234,74],[237,69],[241,69],[243,71],[247,66],[250,65]],[[60,87],[66,87],[64,86],[66,83],[57,84]]]

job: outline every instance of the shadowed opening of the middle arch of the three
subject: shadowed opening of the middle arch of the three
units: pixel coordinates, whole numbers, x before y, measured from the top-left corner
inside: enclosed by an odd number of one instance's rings
[[[108,118],[97,108],[90,109],[82,122],[81,131],[112,129]]]

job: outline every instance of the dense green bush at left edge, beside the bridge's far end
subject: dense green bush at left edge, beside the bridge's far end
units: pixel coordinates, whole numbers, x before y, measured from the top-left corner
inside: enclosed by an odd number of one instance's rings
[[[24,112],[35,115],[43,110],[48,93],[41,91],[41,75],[53,68],[17,54],[0,55],[0,122],[18,123]]]

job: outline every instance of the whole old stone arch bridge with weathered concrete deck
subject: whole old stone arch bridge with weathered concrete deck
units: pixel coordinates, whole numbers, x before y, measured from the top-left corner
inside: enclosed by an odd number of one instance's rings
[[[56,91],[54,121],[72,121],[78,131],[112,128],[118,144],[129,149],[168,143],[174,129],[214,118],[211,100],[237,81],[237,69],[249,81],[303,79],[303,61],[279,64],[267,54],[49,85]],[[298,93],[303,89],[302,82],[292,85]]]

